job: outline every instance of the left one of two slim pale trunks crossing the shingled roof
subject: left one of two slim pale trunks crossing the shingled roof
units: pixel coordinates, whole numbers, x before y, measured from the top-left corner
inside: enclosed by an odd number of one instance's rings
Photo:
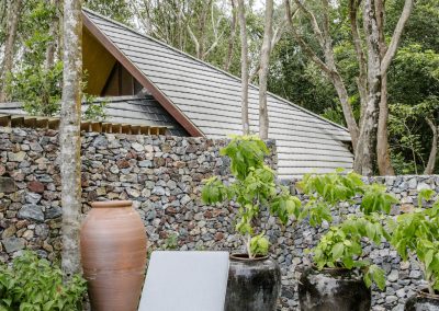
[[[238,16],[240,30],[240,79],[241,79],[241,119],[243,134],[250,133],[250,124],[248,120],[248,43],[246,28],[246,8],[244,0],[238,0]]]

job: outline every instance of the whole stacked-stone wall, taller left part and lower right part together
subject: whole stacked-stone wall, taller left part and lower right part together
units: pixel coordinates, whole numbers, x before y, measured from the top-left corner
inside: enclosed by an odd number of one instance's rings
[[[234,208],[204,206],[201,181],[212,174],[229,178],[227,159],[218,156],[225,140],[165,136],[85,134],[82,138],[83,211],[89,201],[132,199],[143,217],[154,249],[229,250],[241,247],[233,231]],[[275,147],[269,164],[275,168]],[[0,127],[0,260],[9,262],[22,250],[54,260],[59,254],[60,177],[57,131]],[[438,176],[374,178],[403,201],[416,203],[420,187],[439,191]],[[294,181],[288,181],[294,188]],[[397,209],[394,210],[397,212]],[[313,246],[318,230],[302,224],[281,229],[263,215],[261,227],[270,237],[271,253],[283,274],[282,310],[299,310],[296,279],[309,265],[303,251]],[[421,277],[415,264],[402,263],[389,247],[368,249],[389,274],[385,292],[374,290],[374,310],[402,310]]]

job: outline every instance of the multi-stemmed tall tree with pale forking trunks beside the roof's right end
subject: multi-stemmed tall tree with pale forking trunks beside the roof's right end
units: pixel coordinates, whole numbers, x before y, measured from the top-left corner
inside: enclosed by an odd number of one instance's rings
[[[405,23],[412,12],[413,0],[405,0],[404,10],[399,15],[399,21],[395,27],[389,48],[385,48],[385,39],[383,35],[384,2],[382,0],[364,0],[363,7],[361,8],[361,1],[349,1],[348,13],[350,20],[351,38],[359,66],[359,76],[357,78],[358,94],[361,99],[361,114],[359,123],[357,123],[356,118],[353,117],[351,103],[347,91],[348,89],[344,79],[341,78],[341,74],[339,73],[337,68],[338,65],[335,61],[333,35],[330,33],[331,19],[329,18],[329,13],[331,10],[334,10],[334,7],[331,7],[327,0],[315,2],[320,3],[319,15],[316,15],[308,5],[305,5],[305,3],[301,2],[300,0],[294,0],[296,9],[312,26],[314,38],[318,43],[320,50],[313,49],[311,44],[308,44],[299,32],[299,27],[293,24],[290,12],[290,1],[285,0],[286,18],[289,20],[290,28],[292,30],[292,34],[299,45],[308,55],[309,59],[313,60],[328,77],[338,93],[345,120],[351,135],[356,157],[353,164],[354,170],[361,174],[371,175],[373,173],[373,162],[375,159],[374,150],[380,106],[382,110],[384,110],[384,117],[382,118],[382,122],[385,122],[386,124],[386,101],[383,99],[383,96],[381,96],[383,92],[382,88],[386,87],[385,74],[387,72],[390,62],[396,53]],[[363,35],[360,34],[361,26],[359,25],[360,23],[358,16],[358,13],[361,12],[361,10]],[[320,21],[318,21],[317,16],[322,16]],[[364,39],[362,39],[363,37],[365,38],[365,43]],[[320,54],[324,55],[323,59],[319,57]],[[384,77],[384,83],[382,77]],[[380,137],[383,137],[383,131],[385,128],[382,127],[380,129]],[[384,143],[380,143],[380,148],[382,147],[381,145]],[[379,156],[389,156],[387,145],[385,145],[383,148],[384,152],[381,152]],[[381,160],[382,159],[380,159],[379,162],[385,164],[382,165],[383,171],[385,169],[385,173],[392,172],[390,169],[390,161]]]

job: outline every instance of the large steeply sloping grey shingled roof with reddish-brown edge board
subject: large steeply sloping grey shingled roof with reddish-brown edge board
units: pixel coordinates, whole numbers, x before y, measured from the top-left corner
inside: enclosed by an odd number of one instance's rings
[[[190,135],[241,133],[239,78],[92,11],[83,11],[83,24]],[[352,168],[346,128],[271,93],[268,112],[281,177]],[[249,88],[249,118],[250,130],[258,133],[255,85]]]

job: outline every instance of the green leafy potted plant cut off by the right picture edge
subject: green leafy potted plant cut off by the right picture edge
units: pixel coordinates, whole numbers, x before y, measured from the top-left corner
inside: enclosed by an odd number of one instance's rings
[[[418,263],[427,287],[420,289],[405,303],[405,310],[439,310],[439,201],[423,208],[423,199],[430,200],[435,192],[421,189],[418,208],[402,214],[394,222],[392,245],[401,257]]]

